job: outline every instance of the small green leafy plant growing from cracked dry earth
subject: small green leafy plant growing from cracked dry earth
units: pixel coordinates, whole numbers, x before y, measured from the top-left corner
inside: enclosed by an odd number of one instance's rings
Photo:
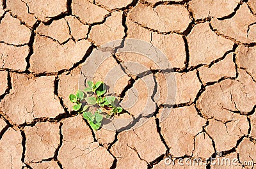
[[[74,111],[83,114],[93,129],[99,129],[102,123],[103,115],[106,118],[113,117],[123,111],[122,107],[116,107],[115,96],[104,96],[106,85],[103,82],[87,82],[84,91],[78,90],[76,94],[70,94],[69,99],[73,105]],[[89,112],[88,110],[93,110]]]

